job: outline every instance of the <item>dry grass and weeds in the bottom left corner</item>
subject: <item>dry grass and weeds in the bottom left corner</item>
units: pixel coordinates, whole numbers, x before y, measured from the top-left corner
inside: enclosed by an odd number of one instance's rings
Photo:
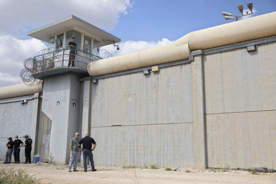
[[[41,184],[41,182],[36,179],[34,175],[29,175],[22,169],[18,169],[16,173],[13,168],[10,169],[7,173],[5,172],[5,169],[0,171],[0,183]]]

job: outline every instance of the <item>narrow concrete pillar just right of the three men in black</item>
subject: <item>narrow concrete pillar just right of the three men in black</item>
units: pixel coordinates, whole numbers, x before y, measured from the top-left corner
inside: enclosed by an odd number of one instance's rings
[[[31,135],[29,135],[32,139],[32,151],[31,151],[31,155],[34,156],[36,153],[34,152],[35,146],[36,146],[36,141],[37,141],[37,124],[38,124],[38,118],[39,118],[39,112],[38,112],[38,107],[39,107],[39,95],[40,93],[34,93],[34,104],[33,104],[33,111],[32,111],[32,132]],[[25,141],[23,141],[25,142]],[[31,157],[32,161],[34,159],[34,157]]]

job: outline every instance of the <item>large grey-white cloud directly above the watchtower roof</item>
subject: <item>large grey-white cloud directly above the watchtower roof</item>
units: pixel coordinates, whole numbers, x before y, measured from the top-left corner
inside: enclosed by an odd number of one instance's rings
[[[2,34],[15,37],[27,31],[74,15],[97,27],[111,30],[120,17],[129,13],[131,0],[3,0],[0,1]]]

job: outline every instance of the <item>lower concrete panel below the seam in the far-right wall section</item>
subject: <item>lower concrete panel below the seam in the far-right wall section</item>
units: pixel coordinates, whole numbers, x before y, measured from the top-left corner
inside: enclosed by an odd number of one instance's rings
[[[206,115],[208,167],[276,168],[276,111]]]

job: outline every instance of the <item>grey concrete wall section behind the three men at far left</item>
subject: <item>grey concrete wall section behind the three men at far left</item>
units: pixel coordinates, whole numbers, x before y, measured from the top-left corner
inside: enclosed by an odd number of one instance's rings
[[[30,97],[30,96],[26,96]],[[16,98],[11,98],[16,99]],[[8,100],[11,100],[8,99]],[[4,101],[3,99],[1,101]],[[22,142],[25,142],[24,135],[28,134],[30,137],[32,131],[32,113],[33,113],[33,101],[28,100],[28,103],[21,104],[20,101],[0,104],[0,160],[5,160],[7,138],[18,135]],[[20,161],[25,161],[24,149],[21,148]],[[11,158],[14,161],[14,157]]]

